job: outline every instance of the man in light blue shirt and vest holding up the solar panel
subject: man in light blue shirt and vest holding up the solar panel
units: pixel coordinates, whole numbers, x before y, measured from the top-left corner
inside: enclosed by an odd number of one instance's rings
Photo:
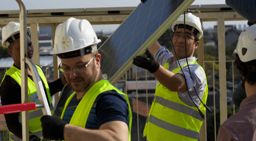
[[[179,61],[176,54],[170,53],[157,41],[146,50],[147,57],[137,56],[133,59],[134,65],[148,69],[159,81],[143,133],[149,141],[199,139],[205,114],[203,103],[206,103],[208,87],[204,70],[193,54],[199,45],[198,39],[203,37],[203,31],[198,17],[192,13],[185,16],[186,34],[184,15],[172,24],[172,47],[176,50]],[[192,78],[186,61],[185,42]]]

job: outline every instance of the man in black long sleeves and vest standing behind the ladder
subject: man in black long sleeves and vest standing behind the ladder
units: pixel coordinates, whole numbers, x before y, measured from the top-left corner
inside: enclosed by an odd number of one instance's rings
[[[33,58],[34,47],[30,39],[30,27],[27,27],[28,36],[28,58]],[[12,56],[14,64],[7,70],[1,82],[0,95],[2,105],[21,103],[21,74],[20,74],[20,23],[9,22],[2,28],[2,46],[7,48],[8,53]],[[52,106],[51,96],[61,91],[66,84],[64,77],[48,83],[42,69],[39,66],[37,71],[43,81],[44,92],[49,105]],[[33,82],[32,73],[28,68],[28,101],[39,103],[36,87]],[[29,111],[29,140],[40,140],[42,136],[42,127],[40,118],[43,116],[42,109]],[[4,115],[8,129],[11,131],[11,140],[21,140],[21,112]]]

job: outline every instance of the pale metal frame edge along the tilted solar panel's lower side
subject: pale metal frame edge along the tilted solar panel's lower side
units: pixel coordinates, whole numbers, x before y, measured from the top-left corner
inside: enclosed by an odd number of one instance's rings
[[[146,48],[153,45],[153,43],[172,25],[172,23],[185,11],[195,0],[184,0],[182,4],[170,15],[169,18],[154,32],[148,40],[132,55],[132,59],[138,55],[142,55],[145,53]],[[184,8],[185,7],[185,8]],[[124,66],[122,66],[111,78],[109,78],[109,82],[111,84],[115,84],[122,75],[125,74],[132,67],[132,59],[129,59]],[[109,76],[108,76],[109,77]]]

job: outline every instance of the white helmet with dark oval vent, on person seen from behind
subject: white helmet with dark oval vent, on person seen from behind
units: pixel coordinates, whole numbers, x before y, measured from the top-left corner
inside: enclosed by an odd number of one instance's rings
[[[256,59],[256,25],[241,32],[234,54],[237,54],[242,62]]]

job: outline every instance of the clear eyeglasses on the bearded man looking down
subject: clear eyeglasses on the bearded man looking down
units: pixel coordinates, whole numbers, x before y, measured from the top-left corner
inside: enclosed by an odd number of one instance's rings
[[[95,57],[95,55],[92,57],[92,59],[94,57]],[[62,67],[62,66],[60,66],[61,65],[61,63],[60,63],[58,69],[60,70],[60,72],[62,74],[70,74],[71,69],[73,69],[74,72],[76,72],[77,74],[84,73],[85,72],[85,68],[89,66],[89,64],[92,62],[92,59],[87,64],[85,64],[85,65],[75,66],[75,67],[72,67],[72,68],[70,68],[70,67]]]

